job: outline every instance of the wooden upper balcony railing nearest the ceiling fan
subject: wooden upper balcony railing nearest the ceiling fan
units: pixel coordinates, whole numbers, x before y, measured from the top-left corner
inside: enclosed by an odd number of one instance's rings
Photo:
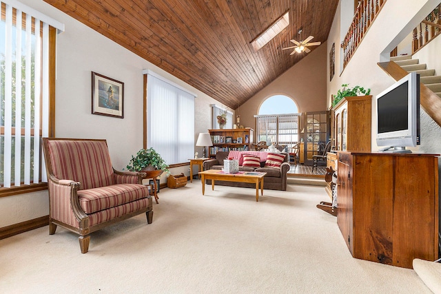
[[[349,30],[341,43],[343,48],[343,69],[356,52],[363,36],[377,17],[387,0],[361,0],[353,16]]]

